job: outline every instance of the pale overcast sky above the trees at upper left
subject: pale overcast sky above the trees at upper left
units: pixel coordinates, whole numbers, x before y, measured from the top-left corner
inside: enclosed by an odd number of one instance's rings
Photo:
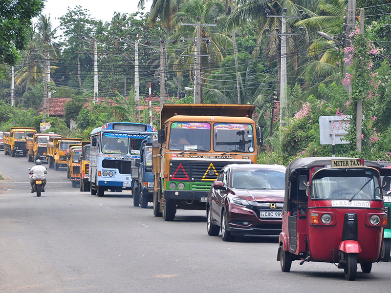
[[[42,14],[50,14],[52,27],[55,28],[60,24],[59,17],[65,15],[68,7],[74,8],[81,5],[83,9],[88,9],[91,18],[102,20],[103,23],[111,21],[114,12],[132,13],[136,12],[138,0],[46,0]],[[146,1],[144,12],[151,8],[152,0]]]

